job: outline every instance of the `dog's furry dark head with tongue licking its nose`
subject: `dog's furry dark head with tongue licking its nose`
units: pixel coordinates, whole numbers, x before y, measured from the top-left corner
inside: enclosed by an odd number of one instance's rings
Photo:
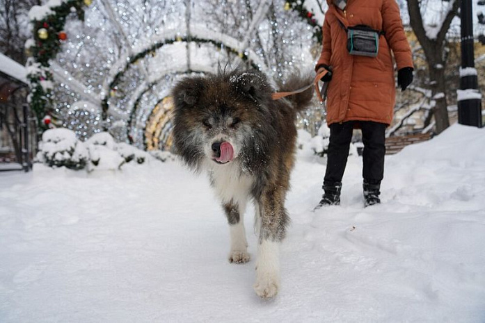
[[[175,149],[194,168],[204,160],[227,165],[244,157],[257,128],[268,121],[271,88],[259,73],[185,78],[172,95]]]

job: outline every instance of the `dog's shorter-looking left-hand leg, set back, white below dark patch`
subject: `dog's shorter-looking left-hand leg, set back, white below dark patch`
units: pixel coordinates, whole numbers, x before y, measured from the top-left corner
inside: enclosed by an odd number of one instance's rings
[[[223,204],[225,215],[228,217],[231,249],[229,252],[230,263],[247,263],[250,259],[248,254],[248,241],[246,240],[246,230],[244,229],[244,210],[246,203],[239,203],[231,200]]]

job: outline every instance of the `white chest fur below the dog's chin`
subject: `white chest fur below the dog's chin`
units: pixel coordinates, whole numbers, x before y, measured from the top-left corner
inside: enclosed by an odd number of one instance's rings
[[[230,163],[223,167],[214,167],[211,171],[212,183],[216,194],[228,203],[234,201],[246,201],[253,186],[253,177],[241,174],[239,163]]]

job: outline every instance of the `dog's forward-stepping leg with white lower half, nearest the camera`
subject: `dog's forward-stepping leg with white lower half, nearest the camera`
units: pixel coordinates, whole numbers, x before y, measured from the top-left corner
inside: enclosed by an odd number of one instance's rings
[[[285,238],[289,220],[284,193],[278,188],[264,192],[257,203],[256,213],[260,237],[254,290],[262,299],[271,299],[280,289],[280,242]]]

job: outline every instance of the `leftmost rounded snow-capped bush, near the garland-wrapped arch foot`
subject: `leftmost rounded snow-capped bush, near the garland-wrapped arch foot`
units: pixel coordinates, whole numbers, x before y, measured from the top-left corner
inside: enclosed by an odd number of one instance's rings
[[[70,169],[84,169],[89,154],[83,142],[77,140],[74,132],[63,129],[49,129],[42,134],[38,160],[50,167],[65,166]]]

